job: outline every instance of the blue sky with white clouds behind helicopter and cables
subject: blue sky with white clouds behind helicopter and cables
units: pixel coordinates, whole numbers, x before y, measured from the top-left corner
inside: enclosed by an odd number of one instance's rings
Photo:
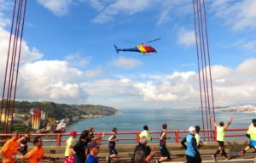
[[[0,0],[0,91],[14,0]],[[206,0],[216,106],[255,104],[256,1]],[[200,106],[191,0],[32,0],[18,100],[118,109]],[[158,53],[119,52],[136,43]]]

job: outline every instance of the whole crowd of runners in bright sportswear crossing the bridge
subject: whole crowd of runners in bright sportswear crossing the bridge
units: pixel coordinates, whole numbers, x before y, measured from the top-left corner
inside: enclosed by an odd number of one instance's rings
[[[225,160],[230,160],[230,156],[227,155],[224,149],[224,137],[225,130],[230,126],[232,122],[232,117],[230,121],[225,125],[223,121],[220,121],[219,124],[212,119],[210,115],[212,124],[216,127],[217,131],[217,141],[218,149],[215,154],[212,155],[212,159],[217,162],[217,155],[221,153],[225,157]],[[171,155],[166,148],[167,137],[167,124],[162,124],[162,131],[160,132],[160,158],[156,162],[163,162],[166,160],[172,160]],[[70,132],[70,138],[66,142],[65,150],[65,163],[98,163],[99,160],[97,155],[100,153],[100,143],[99,142],[105,134],[103,133],[100,136],[95,137],[95,129],[91,127],[89,130],[84,130],[79,136],[79,141],[76,142],[75,138],[77,137],[77,132]],[[108,138],[108,149],[109,155],[106,156],[107,162],[111,162],[113,158],[119,157],[118,151],[116,150],[116,142],[119,140],[117,138],[118,129],[113,127],[112,134]],[[21,163],[24,160],[29,160],[30,163],[41,163],[45,159],[44,156],[44,146],[42,138],[36,136],[31,140],[31,132],[26,131],[25,136],[19,137],[17,132],[13,132],[12,138],[10,138],[0,151],[0,154],[3,159],[3,163],[15,163],[20,161]],[[248,127],[247,138],[250,139],[250,143],[245,149],[241,151],[241,155],[245,155],[248,149],[256,150],[256,119],[252,120],[252,124]],[[157,147],[153,145],[151,148],[148,145],[148,141],[151,141],[152,138],[148,134],[148,126],[143,126],[143,132],[139,134],[140,141],[134,149],[134,154],[131,158],[131,162],[134,163],[145,163],[149,162],[157,154]],[[32,142],[34,148],[28,151],[28,143]],[[199,150],[201,146],[206,145],[206,143],[201,141],[200,138],[200,126],[190,126],[189,134],[183,138],[180,142],[183,146],[183,149],[186,149],[186,160],[187,163],[201,163],[201,155]],[[18,156],[20,152],[20,156]],[[255,158],[256,159],[256,158]],[[254,160],[255,161],[255,160]],[[256,162],[256,161],[255,161]]]

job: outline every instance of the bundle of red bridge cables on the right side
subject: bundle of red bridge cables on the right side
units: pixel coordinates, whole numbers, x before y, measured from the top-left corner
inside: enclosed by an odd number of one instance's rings
[[[195,11],[195,6],[196,6],[196,11]],[[212,89],[212,71],[211,71],[210,50],[209,50],[209,42],[208,42],[207,13],[206,13],[206,7],[205,7],[205,0],[193,0],[193,10],[194,10],[194,20],[195,20],[195,41],[196,41],[196,53],[197,53],[197,60],[198,60],[198,76],[199,76],[200,95],[201,95],[202,126],[203,126],[203,129],[212,129],[212,123],[208,117],[209,115],[213,114],[213,118],[215,120],[215,110],[214,110],[214,100],[213,100],[214,98],[213,98],[213,89]],[[206,51],[207,51],[207,54],[206,54]],[[202,74],[202,80],[201,80],[201,74]],[[210,84],[208,84],[209,82]],[[203,87],[203,90],[202,90],[202,87]],[[202,93],[204,93],[204,98],[202,98]],[[210,103],[211,99],[212,99],[212,106]],[[205,108],[205,113],[203,111],[203,108]],[[204,119],[204,117],[206,117],[206,120]],[[207,128],[205,128],[205,124],[207,125],[206,126]],[[208,140],[213,141],[212,132],[207,132],[207,137],[208,137]]]

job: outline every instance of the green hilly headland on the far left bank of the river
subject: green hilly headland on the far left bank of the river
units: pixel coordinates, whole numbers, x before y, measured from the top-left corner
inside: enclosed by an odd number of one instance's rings
[[[113,115],[117,112],[116,109],[103,105],[15,101],[15,113],[17,114],[28,114],[32,109],[43,110],[49,117],[56,119],[62,119],[68,115]]]

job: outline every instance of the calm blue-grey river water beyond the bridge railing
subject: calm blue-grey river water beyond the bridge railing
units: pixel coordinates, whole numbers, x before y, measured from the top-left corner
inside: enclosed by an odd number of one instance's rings
[[[230,115],[233,116],[233,122],[230,128],[247,127],[250,125],[252,119],[256,118],[255,113],[216,112],[216,120],[227,123]],[[96,129],[96,132],[111,132],[113,127],[117,127],[119,132],[135,132],[142,131],[144,125],[148,125],[149,131],[160,131],[161,124],[163,123],[168,124],[169,130],[187,130],[189,126],[201,126],[201,110],[119,110],[116,115],[73,123],[67,126],[67,132],[71,130],[82,132],[91,126]],[[125,137],[127,138],[127,136]],[[131,137],[135,136],[133,135]],[[158,135],[155,135],[155,137],[158,137]]]

